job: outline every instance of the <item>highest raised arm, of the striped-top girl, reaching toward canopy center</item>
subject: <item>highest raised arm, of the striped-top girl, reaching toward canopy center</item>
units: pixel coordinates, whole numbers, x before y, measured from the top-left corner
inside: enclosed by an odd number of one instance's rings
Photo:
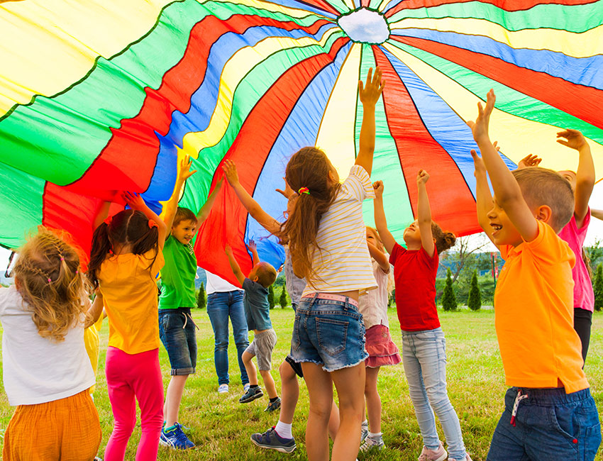
[[[358,82],[358,96],[363,103],[363,124],[360,127],[360,142],[358,145],[358,157],[356,165],[363,167],[370,176],[372,170],[372,155],[375,153],[375,104],[379,100],[385,82],[381,80],[381,69],[375,69],[372,75],[372,67],[368,70],[366,84]]]

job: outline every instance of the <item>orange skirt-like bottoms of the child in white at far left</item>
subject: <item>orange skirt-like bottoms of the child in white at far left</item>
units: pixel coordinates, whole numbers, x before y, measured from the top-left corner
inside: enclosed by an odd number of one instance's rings
[[[4,433],[4,461],[92,461],[101,445],[99,413],[88,390],[17,406]]]

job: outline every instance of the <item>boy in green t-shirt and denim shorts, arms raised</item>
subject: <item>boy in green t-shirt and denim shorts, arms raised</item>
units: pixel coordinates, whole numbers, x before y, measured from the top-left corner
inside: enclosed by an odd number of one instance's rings
[[[159,299],[159,335],[172,367],[172,378],[165,394],[165,424],[160,443],[178,450],[194,447],[194,443],[182,432],[182,426],[177,422],[184,384],[189,374],[195,372],[197,365],[197,326],[191,317],[191,308],[197,305],[194,287],[197,258],[191,240],[209,215],[222,186],[220,180],[197,216],[189,209],[179,208],[177,204],[182,185],[194,174],[194,171],[190,171],[191,163],[188,156],[180,162],[174,194],[165,205],[163,220],[171,232],[163,247],[165,266],[161,270],[162,290]]]

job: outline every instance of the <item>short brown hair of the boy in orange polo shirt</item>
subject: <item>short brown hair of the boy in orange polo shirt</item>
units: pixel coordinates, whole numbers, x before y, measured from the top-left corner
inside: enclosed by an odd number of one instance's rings
[[[559,232],[574,214],[574,193],[567,179],[546,168],[514,170],[521,194],[531,209],[546,205],[553,212],[549,225]]]

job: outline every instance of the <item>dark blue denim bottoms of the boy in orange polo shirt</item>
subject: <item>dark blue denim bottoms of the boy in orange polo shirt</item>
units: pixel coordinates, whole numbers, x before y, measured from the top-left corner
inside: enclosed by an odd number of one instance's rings
[[[589,389],[521,389],[515,426],[511,413],[519,389],[504,396],[488,461],[592,461],[601,444],[601,425]]]

